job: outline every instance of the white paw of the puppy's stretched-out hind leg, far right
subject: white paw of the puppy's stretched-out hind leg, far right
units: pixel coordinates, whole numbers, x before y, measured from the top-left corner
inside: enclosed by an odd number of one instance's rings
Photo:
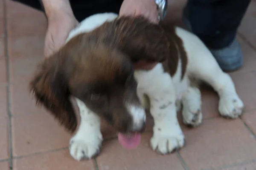
[[[244,104],[237,94],[222,95],[219,101],[219,112],[223,117],[238,118],[243,112]]]

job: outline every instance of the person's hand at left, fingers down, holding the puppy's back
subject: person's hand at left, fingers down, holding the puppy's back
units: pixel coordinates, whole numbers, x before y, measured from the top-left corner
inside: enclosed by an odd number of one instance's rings
[[[58,11],[48,17],[48,28],[44,43],[44,55],[49,57],[66,42],[72,29],[78,25],[73,14]]]

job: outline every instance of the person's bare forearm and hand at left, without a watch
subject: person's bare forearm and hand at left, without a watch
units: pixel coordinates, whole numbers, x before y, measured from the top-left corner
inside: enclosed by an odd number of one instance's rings
[[[78,21],[74,16],[69,0],[41,0],[48,26],[45,36],[44,55],[50,57],[67,40]]]

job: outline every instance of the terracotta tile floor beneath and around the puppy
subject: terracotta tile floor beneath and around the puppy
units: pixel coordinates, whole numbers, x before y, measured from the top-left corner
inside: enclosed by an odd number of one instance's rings
[[[170,0],[168,22],[180,25],[186,0]],[[149,148],[152,119],[137,150],[122,149],[113,130],[103,124],[102,153],[77,162],[68,151],[70,135],[35,101],[27,83],[44,59],[44,14],[0,0],[0,170],[256,170],[256,0],[239,28],[245,61],[232,72],[245,112],[226,120],[218,115],[218,97],[202,90],[204,122],[196,129],[183,126],[186,146],[158,156]]]

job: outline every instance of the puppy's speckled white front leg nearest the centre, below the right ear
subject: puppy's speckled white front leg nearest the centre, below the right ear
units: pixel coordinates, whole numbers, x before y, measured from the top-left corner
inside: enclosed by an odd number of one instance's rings
[[[160,154],[167,154],[184,146],[183,132],[177,120],[176,94],[172,78],[163,72],[161,64],[151,71],[136,74],[138,88],[143,89],[150,101],[154,118],[151,147]]]

